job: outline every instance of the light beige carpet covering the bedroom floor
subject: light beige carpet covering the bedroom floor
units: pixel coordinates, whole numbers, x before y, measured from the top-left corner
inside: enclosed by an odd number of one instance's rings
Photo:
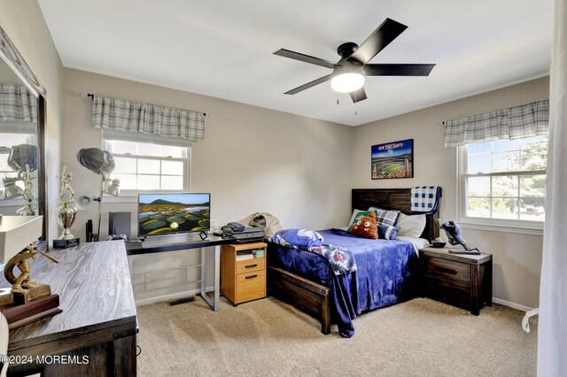
[[[354,319],[353,338],[336,327],[322,335],[317,321],[276,298],[213,312],[190,304],[138,308],[142,376],[402,375],[533,376],[537,319],[494,304],[478,317],[416,298]]]

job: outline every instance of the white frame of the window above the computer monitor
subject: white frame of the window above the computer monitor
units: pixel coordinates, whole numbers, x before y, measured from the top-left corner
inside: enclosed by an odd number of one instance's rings
[[[172,158],[172,157],[160,157],[160,156],[145,156],[145,155],[132,155],[130,153],[126,153],[126,154],[119,154],[119,153],[114,153],[112,150],[110,150],[110,144],[109,142],[137,142],[137,143],[145,143],[145,144],[156,144],[156,145],[167,145],[167,146],[173,146],[173,147],[182,147],[186,149],[186,155],[184,158]],[[149,158],[149,159],[159,159],[159,160],[164,160],[164,161],[180,161],[183,162],[183,188],[178,189],[178,190],[174,190],[174,189],[122,189],[120,188],[120,196],[116,197],[116,196],[110,196],[108,194],[104,194],[105,196],[105,202],[111,202],[111,203],[124,203],[124,202],[136,202],[137,201],[137,196],[138,194],[151,194],[151,193],[155,193],[155,192],[159,192],[159,193],[183,193],[183,192],[189,192],[190,191],[190,173],[191,173],[191,169],[190,169],[190,161],[191,161],[191,148],[190,145],[179,145],[175,142],[163,142],[162,140],[159,141],[148,141],[148,140],[128,140],[125,138],[118,138],[118,137],[104,137],[103,141],[102,141],[102,147],[104,150],[109,150],[113,157],[124,157],[124,158],[132,158],[132,157],[136,157],[136,158]],[[138,173],[136,172],[136,175],[138,175]],[[144,175],[144,174],[141,174]],[[149,174],[149,175],[156,175],[156,174]],[[161,173],[159,174],[161,175]],[[110,174],[110,179],[113,179],[113,174]]]

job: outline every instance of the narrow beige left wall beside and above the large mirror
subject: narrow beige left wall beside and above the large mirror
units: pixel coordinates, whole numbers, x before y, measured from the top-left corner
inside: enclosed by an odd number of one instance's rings
[[[58,233],[52,211],[57,192],[52,187],[60,160],[61,85],[63,65],[55,49],[43,14],[35,0],[0,0],[0,26],[47,90],[46,154],[50,208],[50,238]]]

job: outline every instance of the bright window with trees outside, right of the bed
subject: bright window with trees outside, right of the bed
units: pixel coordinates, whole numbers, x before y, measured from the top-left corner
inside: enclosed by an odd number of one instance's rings
[[[512,226],[544,221],[548,136],[459,149],[463,219]]]

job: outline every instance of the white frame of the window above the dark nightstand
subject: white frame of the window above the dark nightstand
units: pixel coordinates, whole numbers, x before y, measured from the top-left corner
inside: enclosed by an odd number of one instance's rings
[[[521,219],[492,219],[467,216],[467,178],[491,177],[509,175],[533,175],[533,173],[547,173],[546,170],[529,172],[501,172],[501,173],[466,173],[468,151],[467,146],[457,147],[457,213],[458,221],[463,227],[495,232],[517,233],[524,235],[543,235],[544,221]],[[492,188],[491,196],[492,197]]]

